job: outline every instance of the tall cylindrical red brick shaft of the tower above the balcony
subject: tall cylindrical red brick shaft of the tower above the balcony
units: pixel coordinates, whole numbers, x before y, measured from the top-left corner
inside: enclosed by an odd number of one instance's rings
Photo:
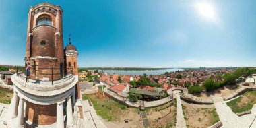
[[[40,6],[39,6],[40,5]],[[53,67],[53,72],[56,74],[60,73],[61,63],[64,65],[64,53],[63,53],[63,28],[62,28],[62,9],[59,6],[55,6],[49,3],[42,3],[36,5],[39,7],[36,11],[33,11],[35,7],[32,7],[28,13],[28,32],[27,32],[27,43],[26,43],[26,62],[34,63],[36,61],[36,68],[32,68],[30,79],[35,79],[37,76],[39,79],[42,77],[49,77],[51,80],[51,75],[42,75],[41,73],[51,73],[51,69],[45,70],[40,68],[51,68]],[[51,9],[52,12],[47,11],[48,7],[44,5],[49,5],[55,9]],[[40,9],[40,11],[38,11]],[[54,12],[54,13],[53,13]],[[50,18],[52,21],[52,26],[42,25],[36,26],[36,21],[40,18]],[[35,28],[36,27],[36,28]],[[30,36],[30,33],[33,36]],[[45,46],[41,45],[42,40],[46,42]],[[29,59],[34,56],[50,56],[57,57],[54,59]],[[64,67],[64,66],[63,66]],[[63,69],[64,70],[64,69]],[[64,71],[63,71],[64,73]],[[36,74],[36,76],[35,76]],[[54,75],[53,79],[57,80],[60,75]]]

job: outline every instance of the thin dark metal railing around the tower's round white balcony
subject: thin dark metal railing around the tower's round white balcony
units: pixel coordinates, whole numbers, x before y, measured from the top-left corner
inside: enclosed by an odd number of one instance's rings
[[[51,67],[51,68],[42,68],[42,67],[38,67],[37,69],[36,69],[36,66],[38,66],[38,65],[34,65],[33,67],[31,67],[33,70],[32,70],[32,72],[30,72],[30,75],[31,75],[31,73],[34,73],[34,77],[36,77],[36,76],[38,76],[38,75],[50,75],[51,76],[51,84],[53,85],[53,82],[54,81],[57,81],[57,80],[61,80],[61,79],[71,79],[72,77],[73,77],[73,68],[72,67],[68,67],[68,68],[63,68],[63,69],[60,69],[60,68],[53,68],[53,67]],[[31,69],[30,68],[30,69]],[[67,69],[67,70],[66,70]],[[50,70],[49,72],[50,73],[40,73],[40,72],[42,72],[42,71],[45,71],[45,70]],[[59,71],[59,73],[55,73],[55,70],[58,70]],[[24,75],[22,75],[23,72],[24,71]],[[28,79],[29,79],[29,77],[28,77],[28,71],[26,71],[26,67],[24,68],[24,70],[23,71],[19,71],[19,67],[17,66],[16,67],[16,74],[18,75],[18,76],[20,76],[20,77],[23,77],[23,78],[25,78],[26,79],[26,82],[28,82]],[[31,70],[30,70],[31,71]],[[59,79],[53,79],[53,77],[55,76],[55,75],[59,75]],[[35,80],[37,80],[37,81],[40,81],[40,80],[38,80],[38,79],[35,79]]]

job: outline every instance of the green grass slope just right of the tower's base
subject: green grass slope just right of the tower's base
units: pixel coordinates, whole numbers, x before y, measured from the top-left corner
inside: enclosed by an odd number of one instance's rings
[[[100,115],[106,121],[118,121],[119,117],[127,110],[127,106],[119,104],[106,96],[90,94],[82,97],[83,100],[90,99],[97,115]]]

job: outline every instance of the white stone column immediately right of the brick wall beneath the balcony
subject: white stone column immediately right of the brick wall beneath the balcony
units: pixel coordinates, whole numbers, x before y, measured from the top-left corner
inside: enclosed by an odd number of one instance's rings
[[[63,116],[63,102],[65,102],[65,100],[63,100],[62,102],[58,102],[57,103],[57,121],[56,121],[56,126],[58,128],[64,128],[64,116]]]

